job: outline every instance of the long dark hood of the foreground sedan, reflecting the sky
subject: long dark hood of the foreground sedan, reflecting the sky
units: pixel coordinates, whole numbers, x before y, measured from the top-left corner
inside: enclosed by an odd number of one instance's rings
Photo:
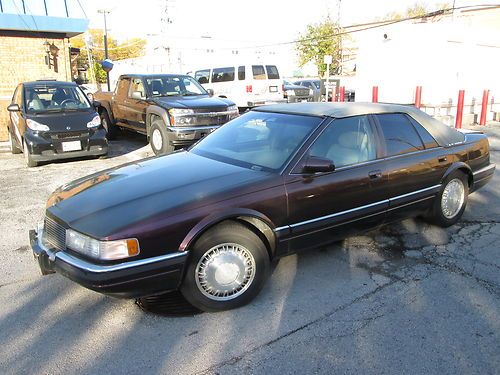
[[[181,151],[63,185],[50,196],[47,211],[77,231],[106,238],[156,215],[241,195],[245,186],[275,176]]]

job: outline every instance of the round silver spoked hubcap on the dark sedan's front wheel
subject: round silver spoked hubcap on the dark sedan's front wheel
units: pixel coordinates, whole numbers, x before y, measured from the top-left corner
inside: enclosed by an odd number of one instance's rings
[[[196,285],[204,296],[214,301],[227,301],[242,295],[254,277],[252,253],[235,243],[212,247],[196,265]]]

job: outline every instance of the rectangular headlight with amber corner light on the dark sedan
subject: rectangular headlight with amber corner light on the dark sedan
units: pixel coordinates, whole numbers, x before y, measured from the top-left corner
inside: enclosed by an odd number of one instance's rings
[[[100,260],[124,259],[136,256],[141,251],[136,238],[99,241],[73,229],[66,230],[66,247]]]

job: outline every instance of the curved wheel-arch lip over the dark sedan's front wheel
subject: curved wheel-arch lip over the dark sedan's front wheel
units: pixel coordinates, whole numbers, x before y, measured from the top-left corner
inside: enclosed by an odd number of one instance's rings
[[[245,218],[253,219],[258,221],[258,225],[254,225],[252,220],[245,220]],[[254,228],[259,230],[262,235],[264,235],[268,240],[268,245],[271,251],[271,256],[274,255],[276,249],[276,238],[274,235],[274,229],[276,226],[274,223],[264,214],[247,209],[247,208],[232,208],[222,212],[213,213],[204,219],[202,219],[198,224],[196,224],[186,235],[184,240],[179,246],[179,251],[186,251],[189,247],[209,228],[214,225],[224,221],[224,220],[240,220],[246,221]]]

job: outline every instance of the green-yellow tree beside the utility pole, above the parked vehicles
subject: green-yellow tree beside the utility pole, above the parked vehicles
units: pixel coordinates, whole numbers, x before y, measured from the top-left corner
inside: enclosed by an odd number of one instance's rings
[[[327,17],[323,22],[307,25],[307,31],[301,35],[295,45],[299,58],[299,65],[303,67],[313,61],[321,77],[325,75],[325,55],[332,56],[330,72],[336,73],[340,69],[342,57],[342,29]]]

